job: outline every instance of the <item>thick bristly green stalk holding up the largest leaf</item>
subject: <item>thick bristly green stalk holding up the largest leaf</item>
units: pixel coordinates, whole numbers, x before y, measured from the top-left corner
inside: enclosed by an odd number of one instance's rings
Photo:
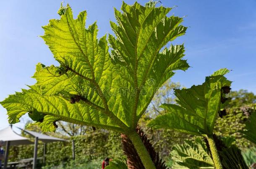
[[[141,162],[144,165],[145,169],[156,169],[148,151],[146,150],[146,147],[144,146],[137,132],[134,131],[133,133],[128,134],[128,137],[129,139],[131,139],[131,142],[133,143],[133,146],[135,147],[138,155],[140,156]]]

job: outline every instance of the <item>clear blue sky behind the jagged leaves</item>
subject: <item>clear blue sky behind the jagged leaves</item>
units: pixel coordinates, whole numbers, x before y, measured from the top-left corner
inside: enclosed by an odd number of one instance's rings
[[[138,0],[144,4],[147,0]],[[133,0],[125,0],[133,4]],[[227,75],[233,90],[247,89],[256,93],[256,0],[161,0],[163,6],[173,7],[170,15],[184,17],[186,35],[174,44],[185,44],[191,68],[178,71],[172,81],[183,86],[204,82],[205,76],[219,68],[232,70]],[[61,0],[2,0],[0,10],[0,101],[8,94],[21,91],[35,65],[57,64],[39,35],[42,25],[59,18]],[[87,10],[86,27],[95,20],[99,37],[112,33],[109,21],[114,19],[113,7],[120,9],[121,0],[66,0],[74,16]],[[22,120],[23,123],[26,118]],[[17,124],[23,126],[23,123]],[[6,110],[0,106],[0,129],[8,126]]]

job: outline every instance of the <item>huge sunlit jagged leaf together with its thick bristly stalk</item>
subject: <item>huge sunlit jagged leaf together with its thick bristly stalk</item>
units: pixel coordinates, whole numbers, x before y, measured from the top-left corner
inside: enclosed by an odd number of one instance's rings
[[[50,20],[42,36],[60,66],[37,64],[37,83],[1,102],[9,122],[29,112],[42,131],[54,131],[56,121],[117,131],[131,139],[145,168],[154,169],[135,128],[155,91],[173,71],[189,67],[183,45],[165,47],[186,30],[182,18],[166,16],[171,9],[138,3],[123,3],[123,13],[115,9],[110,55],[97,24],[85,28],[86,11],[73,19],[70,6],[61,5],[60,20]]]

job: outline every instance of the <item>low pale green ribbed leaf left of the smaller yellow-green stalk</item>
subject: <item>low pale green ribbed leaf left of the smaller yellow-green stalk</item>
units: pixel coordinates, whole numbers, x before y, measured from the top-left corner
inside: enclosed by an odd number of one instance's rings
[[[214,169],[214,163],[201,140],[175,145],[171,152],[175,169]]]

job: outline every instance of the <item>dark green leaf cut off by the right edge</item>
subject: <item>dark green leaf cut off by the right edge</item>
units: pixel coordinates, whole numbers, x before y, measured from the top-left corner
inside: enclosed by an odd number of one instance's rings
[[[248,139],[249,141],[256,144],[256,111],[254,109],[254,112],[250,115],[249,120],[246,121],[246,130],[240,131],[244,134],[244,138]]]

